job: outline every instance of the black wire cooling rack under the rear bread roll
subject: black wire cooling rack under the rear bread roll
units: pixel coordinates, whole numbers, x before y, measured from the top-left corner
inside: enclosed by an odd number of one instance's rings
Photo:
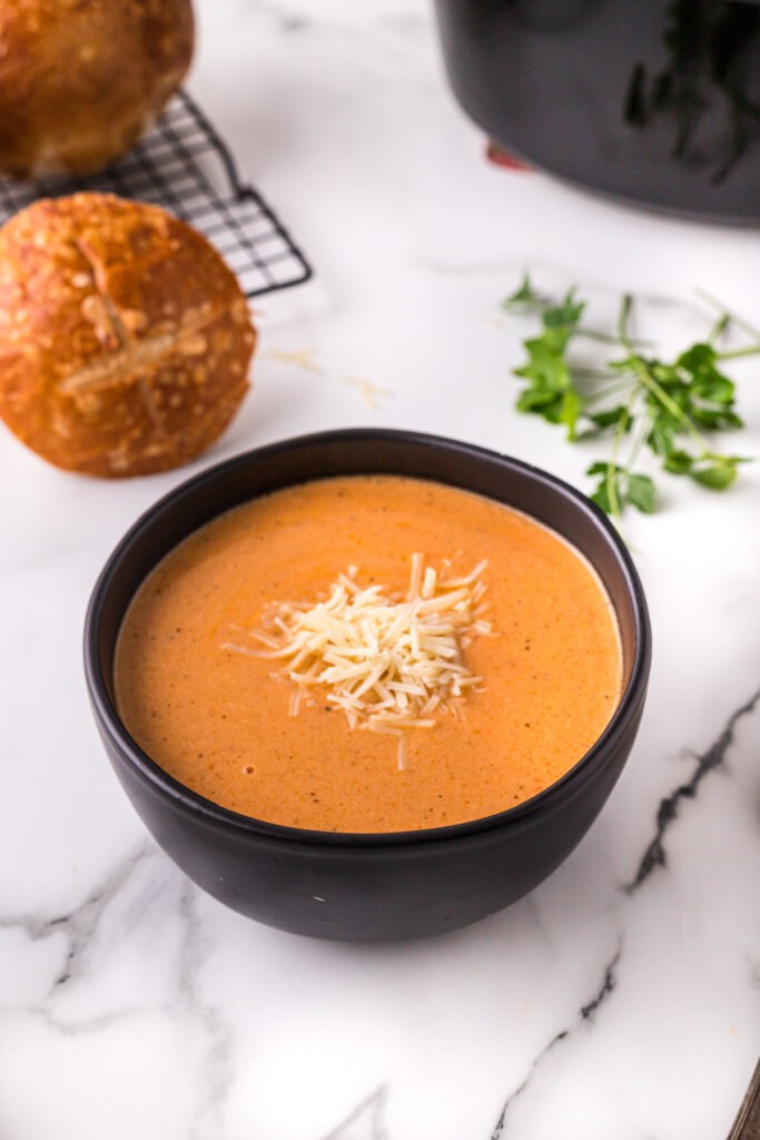
[[[0,222],[36,198],[100,190],[171,210],[213,242],[246,296],[309,280],[311,267],[187,91],[119,162],[83,178],[0,179]]]

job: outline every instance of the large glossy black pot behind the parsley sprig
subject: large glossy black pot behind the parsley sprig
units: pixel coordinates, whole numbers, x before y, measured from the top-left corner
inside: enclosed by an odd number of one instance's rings
[[[760,0],[435,0],[502,149],[628,202],[760,220]]]

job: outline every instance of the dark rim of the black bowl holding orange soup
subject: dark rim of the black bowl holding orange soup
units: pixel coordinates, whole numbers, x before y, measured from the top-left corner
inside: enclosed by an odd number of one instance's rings
[[[262,457],[270,457],[278,453],[291,451],[303,447],[329,447],[335,443],[351,442],[377,442],[386,440],[398,443],[412,445],[416,447],[431,447],[442,449],[450,454],[472,456],[474,458],[496,462],[506,470],[516,469],[537,483],[559,492],[566,499],[571,499],[590,521],[600,529],[612,546],[620,570],[624,579],[627,592],[631,598],[634,610],[634,660],[624,691],[615,707],[615,710],[605,726],[602,734],[591,747],[581,756],[575,764],[569,768],[558,780],[544,788],[541,791],[522,800],[501,812],[481,816],[476,820],[467,820],[460,823],[450,823],[435,828],[420,828],[411,831],[381,831],[381,832],[356,832],[356,831],[319,831],[308,828],[295,828],[288,824],[271,823],[267,820],[259,820],[254,816],[243,815],[230,808],[223,807],[213,800],[193,791],[186,784],[180,783],[169,775],[147,752],[132,739],[126,726],[121,720],[115,703],[112,701],[100,666],[99,653],[99,627],[103,617],[105,601],[111,588],[113,576],[121,567],[122,561],[129,556],[133,544],[142,537],[146,531],[153,529],[161,518],[173,511],[186,498],[197,495],[219,479],[224,479],[237,467],[247,467],[255,464]],[[361,472],[348,472],[348,474],[361,474]],[[379,473],[379,472],[377,472]],[[398,472],[395,472],[398,473]],[[394,474],[392,470],[387,474]],[[330,475],[317,474],[314,479],[330,478]],[[409,477],[424,478],[424,477]],[[299,482],[309,481],[297,479],[283,483],[283,487],[296,486]],[[443,482],[441,479],[432,477],[434,482]],[[456,482],[447,486],[459,487],[468,490]],[[261,494],[269,494],[262,491]],[[472,494],[480,494],[477,491]],[[256,496],[253,495],[252,498]],[[484,495],[483,497],[489,497]],[[495,499],[495,502],[502,502]],[[508,503],[504,503],[508,506]],[[232,507],[224,507],[232,510]],[[520,510],[520,508],[516,508]],[[223,511],[219,512],[220,514]],[[530,512],[524,512],[530,514]],[[211,520],[210,520],[211,521]],[[540,520],[539,520],[540,521]],[[547,526],[545,523],[545,526]],[[186,538],[194,532],[189,530]],[[554,529],[554,528],[549,528]],[[179,539],[182,542],[183,539]],[[572,539],[567,539],[572,545]],[[580,552],[583,554],[583,552]],[[162,555],[165,556],[165,555]],[[586,555],[583,554],[586,557]],[[158,560],[161,561],[161,560]],[[155,563],[158,564],[157,562]],[[596,569],[596,568],[595,568]],[[133,595],[132,595],[133,596]],[[125,611],[124,611],[125,612]],[[123,620],[123,613],[122,613]],[[311,432],[302,435],[287,437],[275,442],[252,448],[239,453],[228,459],[212,464],[196,475],[183,480],[167,494],[153,503],[137,521],[129,528],[117,545],[114,547],[107,562],[105,563],[96,585],[92,589],[84,620],[84,675],[87,687],[92,705],[96,720],[101,733],[107,736],[107,743],[115,748],[120,757],[137,772],[144,782],[147,782],[154,792],[160,797],[170,800],[175,808],[185,813],[199,817],[211,828],[221,828],[226,831],[237,831],[250,834],[252,838],[267,839],[269,841],[280,841],[288,847],[294,845],[307,845],[311,848],[392,848],[399,846],[420,846],[426,844],[441,844],[451,840],[459,840],[467,836],[477,836],[482,832],[492,831],[502,826],[512,826],[528,822],[536,815],[553,814],[567,799],[573,799],[587,781],[593,777],[599,767],[604,767],[607,758],[607,749],[613,739],[624,732],[627,724],[638,712],[638,709],[646,693],[649,663],[652,657],[652,633],[648,617],[648,609],[644,595],[638,572],[632,559],[618,530],[613,527],[607,515],[586,495],[577,488],[566,483],[556,475],[536,467],[523,459],[505,455],[476,443],[468,443],[463,440],[450,439],[443,435],[434,435],[426,432],[412,432],[393,427],[344,427],[320,432]]]

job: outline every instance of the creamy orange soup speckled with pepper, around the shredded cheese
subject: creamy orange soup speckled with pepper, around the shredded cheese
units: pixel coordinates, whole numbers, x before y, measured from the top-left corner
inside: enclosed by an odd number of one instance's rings
[[[487,560],[483,617],[464,651],[482,681],[432,728],[351,727],[317,690],[294,714],[283,662],[231,651],[278,602],[326,597],[349,567],[402,594],[412,554],[467,573]],[[221,515],[149,575],[116,646],[116,702],[140,747],[224,807],[320,831],[460,823],[556,781],[620,697],[611,604],[586,561],[516,511],[392,475],[314,480]]]

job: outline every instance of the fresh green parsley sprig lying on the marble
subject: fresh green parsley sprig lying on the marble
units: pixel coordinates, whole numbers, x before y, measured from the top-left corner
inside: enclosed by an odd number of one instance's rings
[[[541,320],[539,335],[523,341],[526,360],[514,369],[525,381],[517,409],[564,424],[570,441],[611,438],[608,458],[587,471],[597,480],[591,498],[603,511],[620,518],[627,505],[645,514],[656,510],[654,480],[636,471],[643,448],[657,457],[664,471],[712,490],[730,487],[738,465],[749,462],[718,451],[705,434],[743,426],[735,410],[734,383],[721,363],[760,355],[760,335],[722,307],[710,336],[671,363],[645,351],[651,345],[631,336],[629,295],[621,301],[614,336],[582,324],[586,302],[578,298],[577,286],[553,303],[537,292],[528,274],[502,308],[536,312]],[[716,343],[730,324],[754,334],[754,343],[721,352]],[[619,355],[604,368],[582,367],[569,357],[578,337],[614,344]]]

